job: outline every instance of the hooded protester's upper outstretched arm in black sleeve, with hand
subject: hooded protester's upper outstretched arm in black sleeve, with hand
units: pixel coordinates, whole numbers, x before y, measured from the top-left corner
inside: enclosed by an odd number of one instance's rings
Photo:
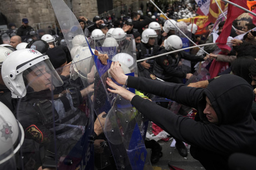
[[[124,75],[119,62],[115,62],[115,64],[112,63],[109,72],[112,78],[120,84],[125,84],[127,80],[128,87],[169,98],[194,108],[197,108],[198,100],[201,97],[203,90],[202,88],[186,87],[183,84],[155,81],[143,77],[126,76]]]

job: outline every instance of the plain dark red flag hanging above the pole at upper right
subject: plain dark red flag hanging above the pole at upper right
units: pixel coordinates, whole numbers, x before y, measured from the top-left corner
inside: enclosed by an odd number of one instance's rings
[[[229,0],[229,1],[243,8],[248,9],[247,0]],[[231,50],[231,48],[228,45],[226,45],[226,43],[232,29],[232,23],[239,15],[241,15],[244,12],[245,12],[244,10],[229,4],[226,22],[223,26],[220,36],[216,40],[216,42],[219,42],[219,44],[217,45],[220,49],[225,49],[229,51]]]

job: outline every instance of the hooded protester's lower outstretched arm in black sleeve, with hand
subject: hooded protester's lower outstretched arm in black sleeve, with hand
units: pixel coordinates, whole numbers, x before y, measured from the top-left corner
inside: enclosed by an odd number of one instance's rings
[[[129,81],[130,80],[128,80],[128,82]],[[206,125],[188,117],[178,116],[171,112],[171,110],[167,110],[162,106],[157,105],[155,102],[145,100],[127,89],[116,85],[109,78],[107,80],[107,84],[114,89],[108,89],[110,92],[120,94],[125,99],[131,101],[132,105],[135,106],[142,114],[147,116],[149,120],[153,121],[160,128],[163,128],[166,132],[175,136],[175,138],[179,140],[188,144],[193,144],[194,146],[221,153],[229,151],[229,146],[227,146],[226,143],[230,144],[230,141],[234,142],[230,136],[225,136],[225,132],[219,131],[219,127],[216,125]],[[160,88],[161,87],[159,87],[159,89]],[[179,88],[181,88],[181,86],[179,86]],[[194,93],[194,95],[197,94]],[[194,100],[197,99],[194,98]],[[218,135],[225,136],[225,139],[222,139],[224,144],[223,142],[218,142],[219,139],[216,138]],[[222,151],[223,149],[225,151]]]

